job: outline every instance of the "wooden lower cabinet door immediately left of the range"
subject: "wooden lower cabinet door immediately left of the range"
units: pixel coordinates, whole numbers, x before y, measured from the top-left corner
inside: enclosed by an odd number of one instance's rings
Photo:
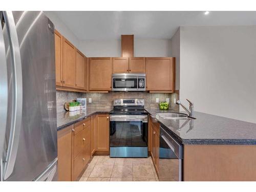
[[[96,117],[96,151],[109,152],[110,150],[110,121],[109,114],[97,114]]]

